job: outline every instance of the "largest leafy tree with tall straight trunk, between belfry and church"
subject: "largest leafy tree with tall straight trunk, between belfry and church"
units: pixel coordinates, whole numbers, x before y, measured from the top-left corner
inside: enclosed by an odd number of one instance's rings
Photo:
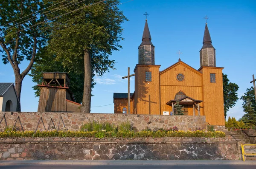
[[[119,45],[123,31],[121,24],[127,19],[119,11],[118,4],[119,0],[85,0],[52,14],[54,17],[82,8],[53,20],[49,48],[57,60],[63,61],[64,68],[74,72],[79,71],[77,64],[84,61],[83,113],[90,113],[93,73],[102,76],[113,68],[115,62],[109,56],[112,51],[122,48]]]

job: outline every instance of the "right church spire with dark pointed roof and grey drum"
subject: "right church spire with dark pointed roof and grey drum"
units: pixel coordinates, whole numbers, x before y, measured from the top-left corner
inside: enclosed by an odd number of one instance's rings
[[[203,47],[200,50],[200,66],[216,66],[215,48],[212,46],[212,39],[207,23],[205,23]]]

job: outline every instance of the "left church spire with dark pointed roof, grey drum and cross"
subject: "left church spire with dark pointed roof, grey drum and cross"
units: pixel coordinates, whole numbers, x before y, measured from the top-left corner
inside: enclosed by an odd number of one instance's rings
[[[143,14],[146,16],[142,42],[139,46],[139,65],[154,65],[154,45],[151,42],[151,35],[148,28],[147,12]]]

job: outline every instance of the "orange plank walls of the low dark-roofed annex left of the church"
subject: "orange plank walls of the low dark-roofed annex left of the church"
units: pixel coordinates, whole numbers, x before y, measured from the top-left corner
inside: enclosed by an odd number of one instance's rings
[[[130,101],[130,113],[134,113],[133,100]],[[128,111],[128,99],[114,99],[114,113],[122,113],[122,109],[125,107]]]

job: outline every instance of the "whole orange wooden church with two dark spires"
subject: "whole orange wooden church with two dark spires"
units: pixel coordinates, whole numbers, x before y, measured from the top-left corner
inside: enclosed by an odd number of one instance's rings
[[[129,97],[130,111],[128,93],[113,93],[114,113],[175,115],[175,104],[178,103],[183,106],[184,115],[204,115],[208,124],[224,126],[224,68],[216,66],[215,48],[207,23],[199,69],[179,59],[160,71],[160,65],[155,65],[154,48],[146,20],[139,46],[139,62],[131,75],[135,76],[135,91]]]

